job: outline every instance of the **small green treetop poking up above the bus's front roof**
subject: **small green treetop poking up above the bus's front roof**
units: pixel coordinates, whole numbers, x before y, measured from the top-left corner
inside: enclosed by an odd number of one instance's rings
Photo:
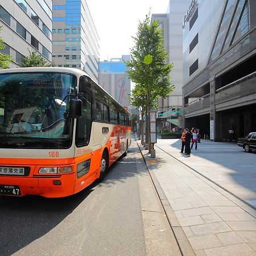
[[[28,67],[54,67],[53,63],[48,63],[48,61],[36,50],[30,51],[28,49],[28,56],[25,56],[23,59],[23,63],[21,65],[22,68]]]

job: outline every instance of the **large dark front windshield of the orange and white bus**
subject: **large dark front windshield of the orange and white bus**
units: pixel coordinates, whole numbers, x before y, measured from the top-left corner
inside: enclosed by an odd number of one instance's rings
[[[64,73],[0,75],[0,147],[69,147],[72,120],[65,96],[75,83],[75,76]]]

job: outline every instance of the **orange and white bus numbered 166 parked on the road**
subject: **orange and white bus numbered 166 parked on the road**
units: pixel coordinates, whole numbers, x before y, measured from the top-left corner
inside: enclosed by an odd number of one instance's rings
[[[129,112],[85,72],[0,71],[0,195],[73,195],[130,143]]]

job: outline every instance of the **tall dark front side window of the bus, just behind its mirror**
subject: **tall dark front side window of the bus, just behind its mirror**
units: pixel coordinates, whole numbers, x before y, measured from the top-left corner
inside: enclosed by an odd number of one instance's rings
[[[82,100],[82,116],[77,118],[76,127],[76,145],[78,147],[85,146],[90,139],[90,126],[92,117],[92,100],[89,93],[83,93]]]

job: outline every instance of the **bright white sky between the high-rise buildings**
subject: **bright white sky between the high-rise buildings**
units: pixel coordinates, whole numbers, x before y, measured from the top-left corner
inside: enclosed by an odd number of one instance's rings
[[[129,55],[139,20],[166,13],[169,0],[86,0],[100,37],[100,60]]]

